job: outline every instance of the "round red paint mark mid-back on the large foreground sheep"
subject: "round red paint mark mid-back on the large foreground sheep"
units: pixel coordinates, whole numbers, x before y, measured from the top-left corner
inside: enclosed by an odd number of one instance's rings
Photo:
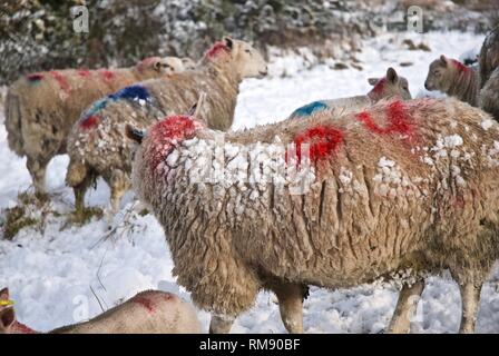
[[[296,145],[297,162],[302,161],[302,144],[310,145],[310,158],[313,161],[329,157],[343,140],[343,134],[326,126],[316,126],[297,135],[294,139]],[[287,152],[285,157],[287,161]]]

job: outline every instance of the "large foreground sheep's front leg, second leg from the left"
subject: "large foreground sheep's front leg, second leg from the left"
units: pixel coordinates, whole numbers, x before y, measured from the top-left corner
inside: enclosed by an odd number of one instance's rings
[[[306,291],[302,285],[280,284],[272,288],[277,296],[281,319],[290,334],[303,333],[303,298]]]

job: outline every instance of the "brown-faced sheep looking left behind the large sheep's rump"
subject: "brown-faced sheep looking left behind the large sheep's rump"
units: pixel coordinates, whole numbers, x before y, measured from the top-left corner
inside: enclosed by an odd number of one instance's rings
[[[424,88],[430,91],[440,90],[476,107],[478,81],[478,73],[473,69],[442,55],[430,63]]]

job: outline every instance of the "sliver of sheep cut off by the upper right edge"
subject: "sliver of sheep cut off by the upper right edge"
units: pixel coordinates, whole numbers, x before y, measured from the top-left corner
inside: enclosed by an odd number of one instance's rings
[[[479,107],[499,121],[499,26],[486,38],[479,57]]]

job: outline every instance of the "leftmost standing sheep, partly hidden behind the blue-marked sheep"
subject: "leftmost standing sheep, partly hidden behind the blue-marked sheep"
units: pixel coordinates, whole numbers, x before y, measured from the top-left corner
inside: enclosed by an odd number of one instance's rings
[[[146,58],[116,70],[51,70],[31,73],[10,86],[6,128],[11,150],[27,159],[38,196],[46,192],[47,165],[66,152],[66,138],[80,112],[92,101],[133,82],[182,71],[175,57]]]

